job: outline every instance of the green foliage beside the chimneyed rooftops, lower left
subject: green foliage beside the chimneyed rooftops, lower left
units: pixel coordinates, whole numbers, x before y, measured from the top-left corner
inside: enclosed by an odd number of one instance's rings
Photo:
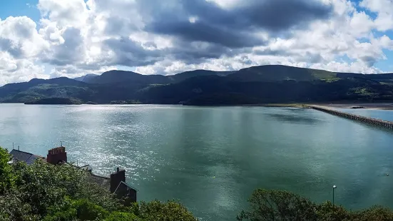
[[[126,207],[73,165],[51,165],[43,160],[9,165],[10,159],[0,148],[1,221],[196,220],[183,205],[172,201]]]

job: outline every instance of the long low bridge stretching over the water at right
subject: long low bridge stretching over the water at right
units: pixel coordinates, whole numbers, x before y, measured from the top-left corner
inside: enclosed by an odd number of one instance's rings
[[[393,122],[391,122],[391,121],[379,120],[379,119],[375,119],[375,118],[367,118],[364,116],[355,115],[352,113],[344,113],[341,111],[336,111],[336,110],[332,110],[330,108],[325,108],[325,107],[321,107],[321,106],[310,106],[310,108],[315,109],[317,111],[323,111],[325,113],[330,113],[332,115],[337,115],[342,118],[347,118],[349,120],[356,120],[361,123],[367,123],[370,125],[377,125],[382,128],[388,128],[388,129],[393,130]]]

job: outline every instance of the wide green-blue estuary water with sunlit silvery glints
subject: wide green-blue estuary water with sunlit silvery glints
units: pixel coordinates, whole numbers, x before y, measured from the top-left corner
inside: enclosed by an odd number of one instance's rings
[[[202,220],[235,220],[257,187],[349,208],[393,206],[393,133],[297,108],[0,105],[0,145],[108,175],[126,168],[139,200],[178,199]]]

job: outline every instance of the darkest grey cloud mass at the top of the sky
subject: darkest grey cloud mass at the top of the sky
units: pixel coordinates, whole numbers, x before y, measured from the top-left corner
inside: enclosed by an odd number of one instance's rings
[[[205,0],[170,1],[169,6],[158,0],[138,3],[148,17],[146,31],[230,48],[263,45],[256,31],[283,34],[332,14],[332,6],[314,0],[247,0],[233,9]],[[190,17],[195,17],[195,22],[190,22]]]

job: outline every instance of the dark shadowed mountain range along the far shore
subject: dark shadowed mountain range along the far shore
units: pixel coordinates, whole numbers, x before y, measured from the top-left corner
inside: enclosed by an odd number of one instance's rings
[[[32,79],[0,87],[2,103],[56,103],[56,98],[66,103],[185,105],[393,101],[393,73],[337,73],[268,65],[173,76],[107,71],[99,76]]]

